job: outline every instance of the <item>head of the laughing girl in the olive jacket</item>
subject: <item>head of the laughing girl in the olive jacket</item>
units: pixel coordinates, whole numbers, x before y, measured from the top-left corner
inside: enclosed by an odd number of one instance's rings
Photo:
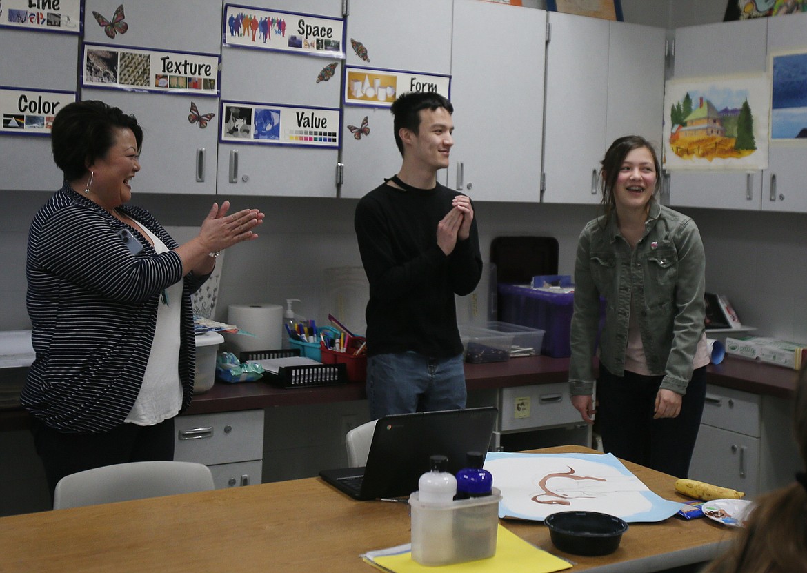
[[[614,140],[601,161],[604,222],[620,212],[650,210],[661,189],[661,164],[653,144],[642,136]]]

